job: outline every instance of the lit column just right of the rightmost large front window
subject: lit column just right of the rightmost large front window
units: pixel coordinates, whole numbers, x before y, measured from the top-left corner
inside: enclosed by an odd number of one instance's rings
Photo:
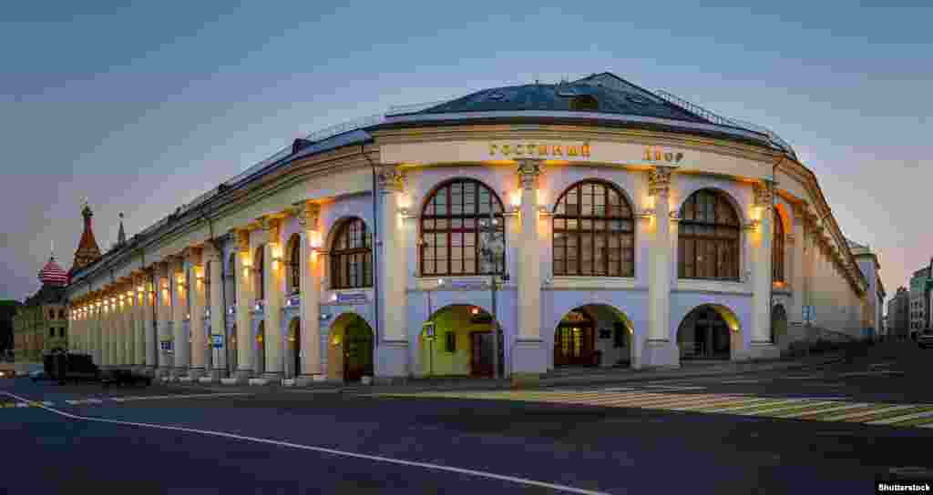
[[[771,336],[771,296],[772,296],[772,236],[774,183],[762,181],[753,185],[755,209],[758,211],[758,226],[751,232],[751,277],[752,277],[752,318],[751,342],[748,357],[778,357],[780,350],[774,346]]]

